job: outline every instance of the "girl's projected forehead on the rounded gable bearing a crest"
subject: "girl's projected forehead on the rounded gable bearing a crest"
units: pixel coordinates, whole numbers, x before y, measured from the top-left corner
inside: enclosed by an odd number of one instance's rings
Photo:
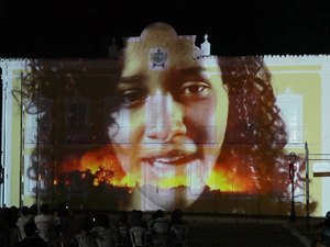
[[[196,67],[196,50],[195,36],[178,36],[172,26],[156,23],[147,26],[140,37],[127,40],[123,72]]]

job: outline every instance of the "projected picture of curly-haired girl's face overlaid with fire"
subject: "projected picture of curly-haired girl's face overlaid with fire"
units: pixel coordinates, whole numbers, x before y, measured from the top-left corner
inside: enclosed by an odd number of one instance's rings
[[[204,212],[218,195],[289,197],[262,57],[200,56],[195,36],[154,23],[118,59],[33,60],[23,82],[38,109],[30,173],[44,200]]]

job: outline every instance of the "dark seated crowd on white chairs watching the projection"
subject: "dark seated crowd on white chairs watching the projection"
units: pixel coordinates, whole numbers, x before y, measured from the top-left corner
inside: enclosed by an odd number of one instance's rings
[[[73,213],[65,203],[56,209],[44,203],[40,207],[34,204],[0,211],[1,247],[134,247],[136,242],[142,246],[177,247],[185,245],[187,232],[188,224],[179,209],[168,215],[163,210],[110,215]]]

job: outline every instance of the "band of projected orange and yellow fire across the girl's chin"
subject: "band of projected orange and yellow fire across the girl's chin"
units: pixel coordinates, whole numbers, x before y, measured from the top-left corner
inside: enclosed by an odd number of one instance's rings
[[[196,168],[196,167],[194,167]],[[164,168],[162,168],[164,169]],[[85,154],[80,160],[72,159],[63,162],[58,167],[58,177],[55,178],[55,184],[58,184],[59,177],[69,175],[70,172],[78,171],[80,173],[80,179],[87,179],[86,173],[92,176],[92,186],[98,187],[100,184],[108,184],[111,187],[125,187],[128,189],[133,189],[136,184],[143,186],[144,181],[141,180],[141,175],[134,175],[132,172],[124,172],[122,166],[112,155],[109,155],[109,147],[105,147],[101,150],[89,151]],[[179,176],[179,171],[174,169],[167,171],[166,168],[163,171],[164,179],[162,181],[153,180],[150,178],[146,182],[151,186],[157,187],[158,189],[170,189],[175,187],[190,187],[190,182],[198,181],[200,178],[193,178],[187,180],[186,173],[191,171],[185,170]],[[249,192],[249,181],[248,178],[241,178],[237,181],[231,181],[234,171],[226,170],[213,170],[205,171],[202,173],[208,173],[208,180],[206,186],[211,190],[221,190],[222,192]],[[66,179],[63,181],[66,186],[70,184],[70,180]]]

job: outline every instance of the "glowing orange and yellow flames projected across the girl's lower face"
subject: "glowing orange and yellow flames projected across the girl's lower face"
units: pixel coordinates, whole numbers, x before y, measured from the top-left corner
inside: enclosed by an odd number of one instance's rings
[[[110,146],[106,146],[98,150],[87,151],[81,158],[72,156],[59,165],[57,171],[58,175],[61,175],[63,172],[72,172],[75,170],[81,172],[81,179],[85,178],[86,171],[91,172],[94,175],[92,184],[96,187],[101,183],[127,188],[143,186],[141,173],[125,173],[116,156],[112,155]],[[220,190],[222,192],[246,192],[253,190],[250,180],[251,179],[249,178],[238,176],[234,169],[227,170],[218,168],[210,171],[206,183],[210,190]],[[163,179],[156,187],[162,189],[170,189],[179,186],[189,187],[190,182],[191,181],[187,180],[186,176],[182,175]],[[55,179],[54,184],[57,183],[58,181]],[[66,181],[66,184],[69,184],[69,181]]]

